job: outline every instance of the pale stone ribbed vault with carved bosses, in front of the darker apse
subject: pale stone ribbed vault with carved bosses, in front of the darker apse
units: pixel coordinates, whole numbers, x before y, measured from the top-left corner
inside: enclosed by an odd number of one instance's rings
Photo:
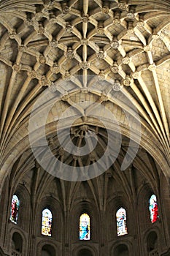
[[[166,0],[1,0],[2,174],[29,147],[28,117],[48,89],[53,99],[58,97],[49,124],[69,106],[74,115],[89,110],[80,102],[100,102],[116,110],[129,137],[123,111],[135,119],[133,104],[141,122],[141,145],[168,175],[169,31]],[[35,112],[42,108],[40,104]],[[79,124],[83,122],[97,127],[95,120],[84,118]],[[50,127],[49,137],[52,133]]]

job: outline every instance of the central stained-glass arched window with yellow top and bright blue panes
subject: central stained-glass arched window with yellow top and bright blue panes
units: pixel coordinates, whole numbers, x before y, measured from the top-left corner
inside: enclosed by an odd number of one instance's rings
[[[80,240],[90,240],[90,217],[88,214],[80,216]]]

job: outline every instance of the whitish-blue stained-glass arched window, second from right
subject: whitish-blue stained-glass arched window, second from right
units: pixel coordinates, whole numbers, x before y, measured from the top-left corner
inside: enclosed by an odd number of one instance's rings
[[[116,213],[117,236],[123,236],[128,233],[126,226],[126,213],[124,208],[120,208]]]

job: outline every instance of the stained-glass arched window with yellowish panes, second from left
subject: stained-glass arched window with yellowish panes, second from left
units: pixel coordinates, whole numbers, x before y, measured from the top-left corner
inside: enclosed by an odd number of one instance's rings
[[[45,208],[42,211],[42,235],[51,236],[52,219],[51,211]]]

